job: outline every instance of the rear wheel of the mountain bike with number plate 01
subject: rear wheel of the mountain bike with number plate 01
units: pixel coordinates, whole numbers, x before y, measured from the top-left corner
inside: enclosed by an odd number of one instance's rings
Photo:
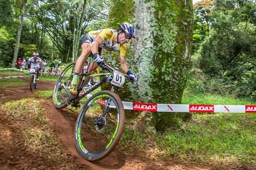
[[[59,75],[53,91],[53,104],[56,108],[62,109],[68,106],[69,95],[67,88],[74,76],[75,63],[70,63]]]

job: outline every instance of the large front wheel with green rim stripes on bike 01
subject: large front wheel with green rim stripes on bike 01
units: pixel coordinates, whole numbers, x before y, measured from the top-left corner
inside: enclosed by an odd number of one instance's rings
[[[95,93],[76,120],[77,152],[89,161],[103,159],[116,147],[123,125],[124,108],[119,96],[109,90]]]

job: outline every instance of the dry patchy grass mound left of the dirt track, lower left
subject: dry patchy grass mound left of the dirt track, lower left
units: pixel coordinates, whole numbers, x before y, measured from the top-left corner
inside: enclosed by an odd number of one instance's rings
[[[34,98],[9,101],[0,107],[2,116],[18,124],[25,136],[25,145],[34,151],[60,157],[63,150],[55,139],[53,130],[47,125],[44,107]]]

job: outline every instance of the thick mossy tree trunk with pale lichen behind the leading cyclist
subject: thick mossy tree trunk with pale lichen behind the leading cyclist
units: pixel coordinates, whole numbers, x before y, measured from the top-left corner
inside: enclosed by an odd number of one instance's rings
[[[138,82],[118,91],[124,101],[181,103],[191,53],[193,9],[191,1],[113,1],[111,25],[133,21],[136,39],[126,55]],[[127,7],[129,6],[129,7]],[[114,11],[114,12],[113,12]],[[133,13],[134,12],[134,13]],[[133,16],[134,14],[134,16]],[[132,49],[131,49],[132,48]],[[115,62],[117,63],[117,62]],[[152,113],[158,131],[172,126],[174,114]],[[175,120],[177,121],[177,120]]]

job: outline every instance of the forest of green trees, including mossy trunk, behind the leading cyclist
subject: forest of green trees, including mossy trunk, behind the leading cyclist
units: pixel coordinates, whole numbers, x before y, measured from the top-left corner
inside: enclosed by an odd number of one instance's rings
[[[255,1],[205,0],[192,7],[192,1],[5,0],[0,7],[3,67],[34,50],[48,63],[75,61],[81,35],[128,21],[137,38],[126,60],[139,81],[119,92],[123,100],[181,103],[185,88],[255,100]],[[116,66],[117,55],[103,53]],[[162,131],[189,113],[173,116],[152,113],[154,126]]]

